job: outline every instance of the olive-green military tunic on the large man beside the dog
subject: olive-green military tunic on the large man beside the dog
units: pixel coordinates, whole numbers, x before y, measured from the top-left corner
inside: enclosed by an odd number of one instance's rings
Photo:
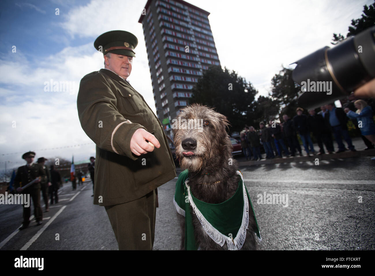
[[[126,80],[108,69],[84,76],[77,108],[83,130],[96,144],[94,204],[133,201],[176,176],[159,119]],[[134,155],[130,139],[138,128],[152,133],[160,148]]]

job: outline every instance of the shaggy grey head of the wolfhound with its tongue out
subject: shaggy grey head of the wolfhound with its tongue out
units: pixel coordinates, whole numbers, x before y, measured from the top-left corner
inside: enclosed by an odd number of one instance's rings
[[[182,169],[198,172],[207,164],[231,157],[228,119],[200,104],[184,107],[172,120],[176,156]]]

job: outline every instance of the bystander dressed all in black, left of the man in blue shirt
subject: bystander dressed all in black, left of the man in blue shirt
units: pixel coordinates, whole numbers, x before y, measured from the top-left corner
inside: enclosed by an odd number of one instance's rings
[[[317,139],[320,152],[318,154],[324,154],[323,142],[326,145],[329,154],[333,153],[333,142],[331,132],[326,126],[326,122],[322,115],[317,114],[314,109],[309,110],[308,122],[309,128]],[[323,140],[323,142],[322,142]]]

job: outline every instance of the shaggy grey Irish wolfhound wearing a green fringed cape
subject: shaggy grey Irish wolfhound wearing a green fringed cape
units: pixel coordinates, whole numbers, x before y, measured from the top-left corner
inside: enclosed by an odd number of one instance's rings
[[[227,118],[211,108],[193,104],[181,109],[181,112],[172,123],[176,156],[180,159],[181,168],[188,170],[188,173],[186,171],[180,173],[176,184],[174,204],[179,214],[186,214],[186,219],[191,215],[190,225],[192,225],[193,229],[195,249],[256,249],[254,232],[257,232],[258,227],[249,202],[250,199],[248,199],[247,193],[244,192],[246,189],[243,190],[245,186],[242,186],[242,175],[237,172],[238,165],[236,160],[232,159],[232,145],[229,135],[226,133],[226,127],[229,125]],[[185,179],[181,180],[181,175],[183,174],[188,178],[186,181]],[[187,202],[184,205],[184,210],[181,210],[176,202],[178,189],[185,189],[181,191],[181,193],[184,193],[182,196],[185,199],[184,202]],[[239,193],[236,193],[237,190]],[[240,208],[242,210],[237,207],[237,214],[229,214],[227,216],[227,213],[224,212],[224,215],[218,215],[216,224],[208,219],[205,220],[203,212],[196,209],[198,205],[191,204],[192,199],[195,198],[198,201],[193,200],[193,202],[201,201],[203,204],[205,202],[207,203],[208,211],[212,211],[213,207],[223,206],[223,204],[230,202],[228,199],[233,202],[232,199],[235,198],[235,193],[236,198],[239,198],[238,195],[240,195]],[[244,199],[246,201],[245,204]],[[226,211],[228,209],[232,210],[231,207],[225,208]],[[213,211],[213,213],[215,212]],[[230,226],[220,225],[220,223],[228,224],[232,216],[239,217],[240,228],[238,232],[227,233],[223,230],[221,231],[223,233],[220,234],[215,231],[216,229],[222,229],[221,226],[224,228]],[[185,228],[185,222],[186,226],[189,226],[187,225],[189,222],[183,216],[178,215],[178,217],[182,226],[183,239],[181,247],[183,248],[186,245],[185,234],[187,235],[187,233],[185,231],[188,231],[185,230],[187,229]],[[217,222],[219,222],[219,225]]]

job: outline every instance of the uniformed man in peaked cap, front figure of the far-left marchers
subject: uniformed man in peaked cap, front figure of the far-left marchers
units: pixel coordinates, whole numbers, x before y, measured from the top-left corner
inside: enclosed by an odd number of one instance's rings
[[[22,158],[27,161],[27,164],[18,168],[14,179],[14,187],[18,193],[22,192],[24,194],[30,194],[30,197],[33,199],[36,225],[41,225],[43,212],[40,207],[40,179],[38,177],[40,176],[43,179],[45,178],[46,173],[40,164],[33,163],[34,157],[35,152],[32,151],[26,152],[22,155]],[[34,179],[36,179],[34,184],[22,190],[23,186]],[[30,208],[30,206],[25,207],[25,205],[23,205],[23,225],[20,227],[20,230],[27,228],[30,224]]]

